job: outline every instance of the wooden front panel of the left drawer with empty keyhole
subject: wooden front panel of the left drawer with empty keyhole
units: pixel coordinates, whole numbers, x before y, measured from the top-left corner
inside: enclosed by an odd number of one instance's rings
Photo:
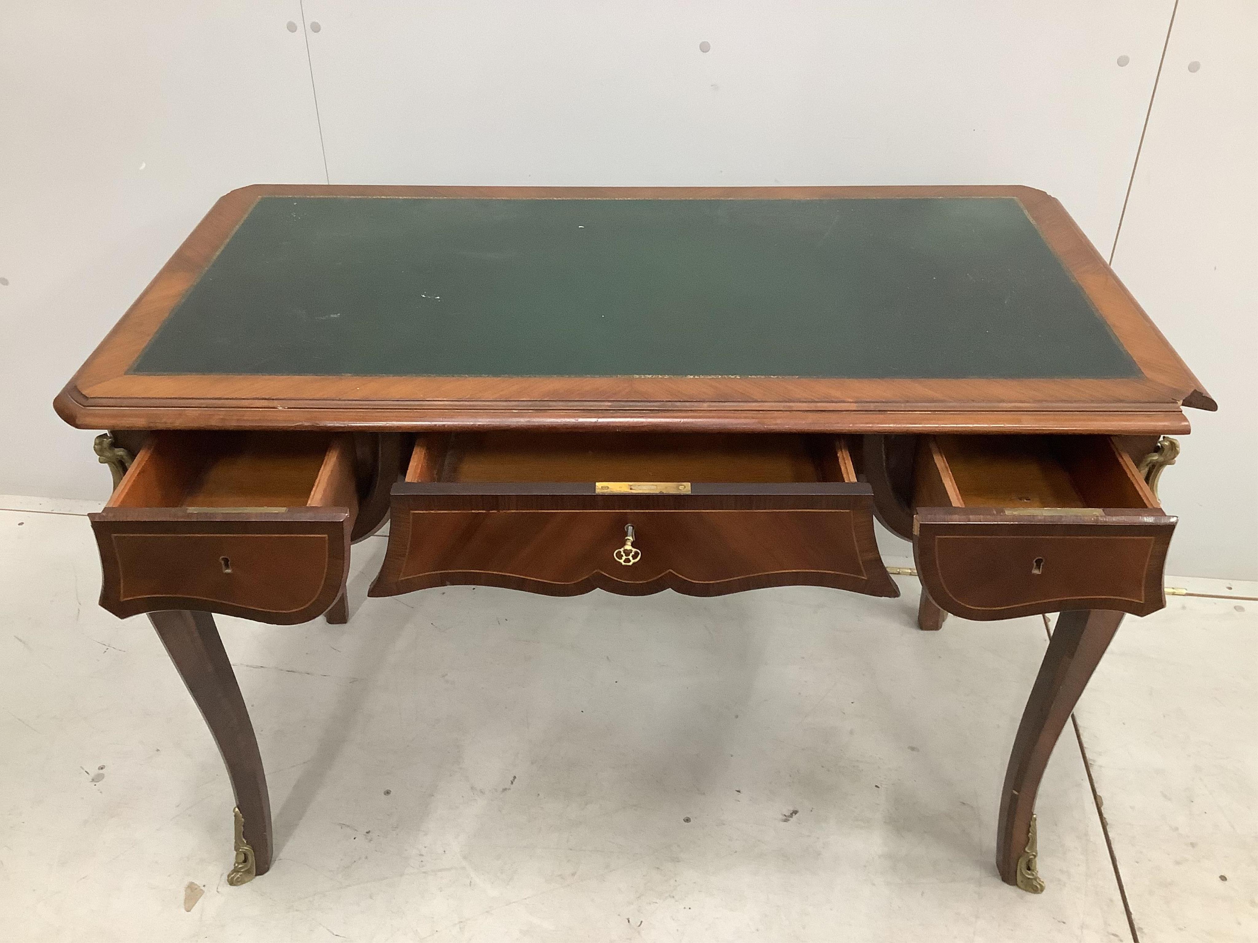
[[[117,616],[192,609],[292,625],[325,612],[347,571],[346,510],[259,516],[180,510],[92,516],[101,605]]]

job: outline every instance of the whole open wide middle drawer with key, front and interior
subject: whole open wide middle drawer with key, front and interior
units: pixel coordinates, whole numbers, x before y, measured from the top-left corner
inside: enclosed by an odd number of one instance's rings
[[[421,435],[372,596],[478,583],[572,596],[898,591],[834,436]],[[632,538],[632,539],[630,539]]]

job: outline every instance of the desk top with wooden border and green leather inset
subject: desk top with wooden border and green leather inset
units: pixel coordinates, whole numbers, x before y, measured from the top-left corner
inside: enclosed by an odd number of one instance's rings
[[[1186,431],[1027,187],[253,186],[57,400],[81,427]]]

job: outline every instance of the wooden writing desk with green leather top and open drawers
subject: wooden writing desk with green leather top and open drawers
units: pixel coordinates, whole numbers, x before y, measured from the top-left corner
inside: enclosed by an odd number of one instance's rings
[[[224,196],[58,396],[114,470],[101,605],[147,612],[270,865],[213,612],[370,595],[815,585],[918,624],[1060,612],[1001,792],[1040,890],[1049,753],[1125,612],[1165,605],[1152,484],[1215,409],[1062,206],[1027,187],[252,186]]]

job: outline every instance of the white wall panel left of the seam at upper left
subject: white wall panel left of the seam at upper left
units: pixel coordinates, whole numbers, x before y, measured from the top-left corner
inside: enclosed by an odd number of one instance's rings
[[[215,199],[325,182],[289,19],[296,0],[6,4],[0,493],[106,497],[93,434],[53,397]]]

